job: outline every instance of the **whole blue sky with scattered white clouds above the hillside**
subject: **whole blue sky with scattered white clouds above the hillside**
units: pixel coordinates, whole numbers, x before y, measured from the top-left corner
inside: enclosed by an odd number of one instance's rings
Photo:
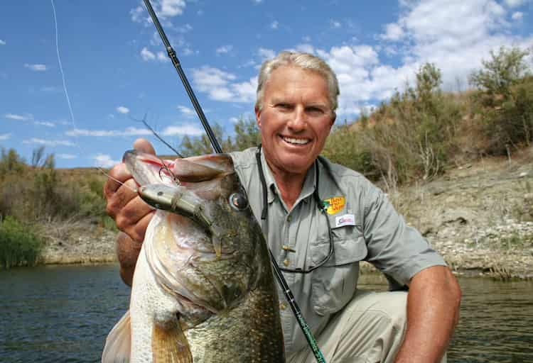
[[[109,167],[138,137],[136,120],[178,145],[203,129],[141,1],[6,0],[0,5],[0,146],[58,167]],[[533,46],[528,0],[154,0],[210,123],[228,133],[253,115],[257,71],[281,50],[323,57],[340,82],[339,121],[352,121],[434,62],[444,87],[500,45]],[[154,140],[156,148],[168,149]]]

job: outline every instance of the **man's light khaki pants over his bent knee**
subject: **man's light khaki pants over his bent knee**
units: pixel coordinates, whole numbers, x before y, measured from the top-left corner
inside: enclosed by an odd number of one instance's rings
[[[406,327],[407,293],[358,290],[318,336],[327,363],[392,363],[402,345]],[[288,357],[288,363],[314,363],[306,348]],[[446,355],[441,363],[446,363]]]

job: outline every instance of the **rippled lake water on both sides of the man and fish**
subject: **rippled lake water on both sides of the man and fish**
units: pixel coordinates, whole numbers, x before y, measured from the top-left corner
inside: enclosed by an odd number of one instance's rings
[[[461,279],[448,362],[533,362],[533,282]],[[360,286],[386,289],[364,275]],[[0,271],[0,362],[99,362],[129,303],[118,265]]]

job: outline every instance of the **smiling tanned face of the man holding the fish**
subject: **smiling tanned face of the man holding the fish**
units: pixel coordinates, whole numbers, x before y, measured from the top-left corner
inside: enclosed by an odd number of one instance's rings
[[[262,105],[255,113],[269,167],[274,173],[305,174],[335,121],[328,83],[308,69],[279,67],[264,85]]]

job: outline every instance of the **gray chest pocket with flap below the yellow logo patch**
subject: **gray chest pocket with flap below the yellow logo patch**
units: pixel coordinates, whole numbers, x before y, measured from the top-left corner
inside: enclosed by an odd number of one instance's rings
[[[346,228],[346,227],[343,227]],[[357,227],[332,230],[333,256],[311,272],[311,303],[318,315],[336,313],[352,298],[359,277],[359,261],[367,255],[367,246]],[[328,256],[328,239],[311,243],[313,265]]]

